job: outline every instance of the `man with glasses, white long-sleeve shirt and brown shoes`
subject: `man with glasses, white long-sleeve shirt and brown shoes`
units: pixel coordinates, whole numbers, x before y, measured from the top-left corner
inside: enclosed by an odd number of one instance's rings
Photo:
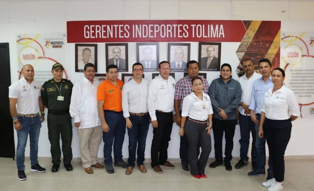
[[[149,128],[147,105],[149,81],[142,77],[143,73],[142,64],[133,64],[133,78],[125,83],[122,89],[122,110],[129,136],[129,159],[127,160],[129,167],[125,171],[127,175],[133,171],[136,153],[139,170],[143,173],[147,172],[143,162],[145,160],[145,144]]]

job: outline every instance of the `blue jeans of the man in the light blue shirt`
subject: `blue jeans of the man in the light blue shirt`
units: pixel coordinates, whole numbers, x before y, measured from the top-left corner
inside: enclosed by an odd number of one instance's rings
[[[261,115],[257,114],[257,120],[260,121]],[[256,170],[258,171],[265,171],[265,164],[266,164],[266,150],[265,150],[265,136],[263,138],[258,137],[258,128],[259,125],[255,125],[255,147],[256,147]],[[268,172],[273,172],[273,164],[271,157],[268,157]]]

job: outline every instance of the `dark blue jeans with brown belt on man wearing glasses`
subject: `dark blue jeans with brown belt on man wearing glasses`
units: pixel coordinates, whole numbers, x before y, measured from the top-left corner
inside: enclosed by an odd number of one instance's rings
[[[132,129],[127,128],[127,134],[129,136],[129,159],[127,162],[129,166],[134,167],[136,146],[137,147],[137,164],[143,165],[145,160],[145,145],[146,137],[149,127],[149,115],[142,117],[131,115],[130,120],[132,122]]]

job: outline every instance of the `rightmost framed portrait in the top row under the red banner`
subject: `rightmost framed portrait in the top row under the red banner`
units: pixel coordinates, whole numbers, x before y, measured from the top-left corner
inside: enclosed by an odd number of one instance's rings
[[[198,43],[198,66],[203,71],[220,71],[221,42]]]

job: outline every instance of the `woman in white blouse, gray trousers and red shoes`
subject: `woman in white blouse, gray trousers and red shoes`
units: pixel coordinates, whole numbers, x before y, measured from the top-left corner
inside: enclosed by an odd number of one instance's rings
[[[213,109],[209,96],[203,93],[203,87],[203,81],[200,77],[192,79],[194,92],[183,99],[179,131],[180,136],[183,136],[183,133],[187,136],[191,174],[198,179],[201,177],[207,178],[204,172],[212,149],[210,130],[212,127]],[[207,125],[207,121],[209,125]],[[201,145],[202,148],[199,160],[197,154],[198,145]]]

